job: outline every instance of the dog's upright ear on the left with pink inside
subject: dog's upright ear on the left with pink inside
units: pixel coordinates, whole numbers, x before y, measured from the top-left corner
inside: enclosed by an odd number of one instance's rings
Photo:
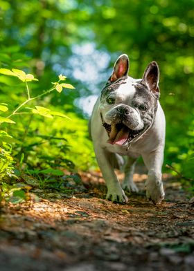
[[[123,76],[127,76],[129,71],[130,61],[127,55],[123,54],[118,57],[114,64],[111,77],[109,77],[109,82],[114,82]]]

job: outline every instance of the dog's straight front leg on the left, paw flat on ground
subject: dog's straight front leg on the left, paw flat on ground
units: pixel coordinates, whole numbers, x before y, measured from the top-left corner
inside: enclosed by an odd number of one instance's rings
[[[118,178],[114,173],[114,168],[112,167],[111,153],[99,147],[94,147],[94,151],[96,153],[98,165],[107,185],[107,200],[112,200],[113,202],[118,203],[127,203],[127,196],[125,196]]]

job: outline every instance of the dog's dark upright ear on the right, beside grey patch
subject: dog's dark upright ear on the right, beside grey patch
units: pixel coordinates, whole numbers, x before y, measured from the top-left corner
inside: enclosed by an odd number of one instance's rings
[[[151,62],[148,64],[148,67],[145,68],[142,83],[145,84],[153,94],[159,97],[159,66],[157,62]]]

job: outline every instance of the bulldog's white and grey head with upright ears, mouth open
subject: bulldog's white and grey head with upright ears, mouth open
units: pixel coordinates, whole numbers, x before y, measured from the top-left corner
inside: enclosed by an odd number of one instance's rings
[[[128,71],[129,59],[121,55],[100,97],[100,113],[110,144],[123,145],[138,140],[151,127],[157,111],[157,62],[148,64],[140,80],[127,76]]]

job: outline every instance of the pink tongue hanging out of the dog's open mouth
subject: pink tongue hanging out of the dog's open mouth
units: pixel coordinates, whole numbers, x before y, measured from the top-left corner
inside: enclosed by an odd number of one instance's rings
[[[110,144],[123,145],[129,136],[129,131],[126,127],[123,127],[120,131],[116,128],[116,125],[112,125],[109,139],[107,140]]]

